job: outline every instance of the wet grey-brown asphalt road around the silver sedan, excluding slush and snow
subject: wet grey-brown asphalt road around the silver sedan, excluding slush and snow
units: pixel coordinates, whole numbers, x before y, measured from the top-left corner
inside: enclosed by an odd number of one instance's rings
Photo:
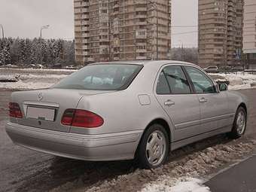
[[[239,92],[248,96],[250,102],[246,135],[256,138],[256,89]],[[5,133],[10,96],[11,91],[0,90],[0,191],[46,191],[74,181],[80,175],[83,175],[82,182],[90,186],[133,171],[131,161],[90,163],[53,157],[14,145]]]

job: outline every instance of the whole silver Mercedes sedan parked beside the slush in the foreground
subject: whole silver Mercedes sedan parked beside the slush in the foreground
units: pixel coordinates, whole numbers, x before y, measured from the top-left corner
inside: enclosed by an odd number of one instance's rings
[[[11,95],[17,145],[78,160],[131,160],[144,168],[200,139],[245,133],[248,102],[188,62],[95,63],[49,89]]]

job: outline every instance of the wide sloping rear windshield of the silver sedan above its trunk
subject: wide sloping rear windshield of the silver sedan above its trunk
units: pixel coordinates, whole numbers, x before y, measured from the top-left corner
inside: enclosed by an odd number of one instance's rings
[[[75,90],[124,90],[138,75],[142,66],[98,64],[86,66],[64,78],[52,88]]]

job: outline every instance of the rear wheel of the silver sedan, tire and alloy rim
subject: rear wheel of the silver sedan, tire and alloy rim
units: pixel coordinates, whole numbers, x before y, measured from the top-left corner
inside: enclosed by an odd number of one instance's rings
[[[137,160],[142,169],[155,169],[166,162],[169,154],[169,136],[160,124],[153,124],[145,130],[139,148]]]

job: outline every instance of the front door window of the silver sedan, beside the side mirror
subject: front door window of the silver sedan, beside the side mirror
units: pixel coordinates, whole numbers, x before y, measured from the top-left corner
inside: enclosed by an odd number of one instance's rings
[[[215,86],[212,80],[205,75],[200,69],[185,66],[187,74],[190,76],[197,93],[215,93]]]

